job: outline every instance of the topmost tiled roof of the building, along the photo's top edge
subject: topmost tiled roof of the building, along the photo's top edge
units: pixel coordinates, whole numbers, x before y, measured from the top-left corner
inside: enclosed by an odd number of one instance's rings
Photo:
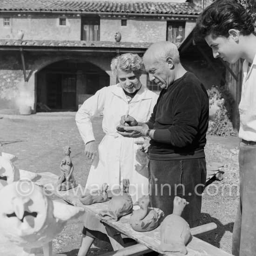
[[[193,3],[87,1],[87,0],[1,0],[0,11],[75,11],[98,13],[152,13],[198,15]]]

